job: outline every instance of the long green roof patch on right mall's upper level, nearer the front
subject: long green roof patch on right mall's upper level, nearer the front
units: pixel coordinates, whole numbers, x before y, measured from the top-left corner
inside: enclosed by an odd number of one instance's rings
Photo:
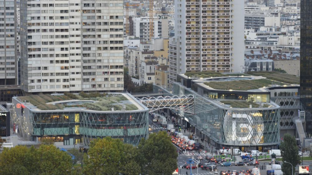
[[[258,80],[240,80],[240,81],[226,81],[226,82],[209,82],[205,83],[205,85],[210,86],[214,89],[220,90],[251,90],[258,89],[263,87],[271,86],[272,84],[276,84],[272,80],[268,79],[258,79]],[[279,84],[285,85],[285,84]]]

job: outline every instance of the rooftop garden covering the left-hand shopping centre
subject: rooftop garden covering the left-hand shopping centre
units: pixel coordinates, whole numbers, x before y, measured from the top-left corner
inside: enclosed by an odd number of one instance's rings
[[[110,111],[114,108],[117,110],[137,110],[137,106],[131,104],[130,102],[126,102],[125,104],[122,101],[128,101],[128,99],[121,94],[105,94],[105,93],[84,93],[80,92],[78,95],[71,93],[64,93],[64,95],[50,95],[50,94],[39,94],[39,95],[28,95],[19,97],[21,102],[31,103],[41,110],[56,110],[56,109],[64,109],[66,107],[83,107],[90,110],[97,111]],[[92,100],[92,102],[83,102],[78,104],[47,104],[50,102],[58,102],[65,100]],[[124,108],[125,107],[125,108]]]

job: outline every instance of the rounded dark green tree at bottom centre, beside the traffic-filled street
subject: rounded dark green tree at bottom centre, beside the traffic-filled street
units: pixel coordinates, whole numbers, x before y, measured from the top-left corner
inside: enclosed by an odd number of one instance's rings
[[[139,164],[142,173],[148,175],[171,175],[177,168],[176,148],[165,131],[149,135],[138,145]]]

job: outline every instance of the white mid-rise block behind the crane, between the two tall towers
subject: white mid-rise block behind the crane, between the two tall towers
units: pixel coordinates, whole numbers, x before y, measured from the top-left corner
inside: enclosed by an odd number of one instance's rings
[[[153,38],[169,38],[169,22],[168,18],[154,17]],[[139,17],[133,19],[133,34],[135,37],[146,42],[150,36],[150,18]]]

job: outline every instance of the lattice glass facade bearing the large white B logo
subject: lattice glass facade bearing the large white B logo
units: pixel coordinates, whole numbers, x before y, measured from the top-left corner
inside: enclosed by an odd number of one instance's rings
[[[178,83],[174,84],[174,94],[195,95],[194,114],[182,115],[217,147],[258,147],[258,150],[264,150],[265,146],[279,144],[280,107],[272,102],[270,107],[232,108]]]

